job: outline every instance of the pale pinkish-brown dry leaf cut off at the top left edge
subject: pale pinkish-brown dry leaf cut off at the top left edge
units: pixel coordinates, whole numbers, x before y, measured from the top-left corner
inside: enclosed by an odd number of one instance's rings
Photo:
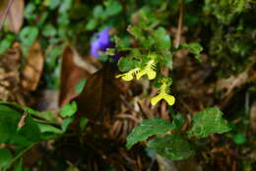
[[[24,0],[16,0],[13,2],[8,13],[9,29],[18,33],[24,22]]]

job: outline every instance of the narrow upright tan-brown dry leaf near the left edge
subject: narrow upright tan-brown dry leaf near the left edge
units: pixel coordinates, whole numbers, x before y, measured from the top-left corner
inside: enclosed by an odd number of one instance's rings
[[[22,85],[25,89],[35,90],[37,87],[43,69],[43,60],[40,44],[35,41],[29,50],[27,64],[22,71]]]

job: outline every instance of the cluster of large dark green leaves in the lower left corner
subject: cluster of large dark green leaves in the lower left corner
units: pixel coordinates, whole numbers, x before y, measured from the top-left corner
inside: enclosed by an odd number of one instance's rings
[[[4,143],[6,147],[0,149],[0,168],[21,170],[23,154],[39,142],[55,140],[65,134],[76,111],[75,102],[64,105],[60,110],[63,119],[60,120],[50,112],[38,112],[16,103],[1,102],[0,143]],[[87,120],[81,120],[81,129],[86,124]]]

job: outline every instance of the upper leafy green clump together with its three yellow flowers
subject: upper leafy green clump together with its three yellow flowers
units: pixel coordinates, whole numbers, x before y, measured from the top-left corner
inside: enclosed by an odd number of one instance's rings
[[[168,32],[160,27],[160,21],[149,8],[141,9],[137,15],[140,22],[129,26],[127,30],[138,41],[139,47],[127,47],[115,37],[117,50],[128,53],[118,61],[119,70],[127,73],[117,78],[129,82],[134,78],[139,80],[147,76],[148,80],[155,80],[155,85],[160,88],[159,95],[152,98],[152,104],[155,105],[160,99],[164,99],[169,105],[173,105],[174,97],[168,94],[169,86],[172,84],[171,78],[161,75],[160,69],[172,69],[172,54],[182,48],[189,49],[195,54],[196,59],[202,62],[200,52],[203,48],[198,43],[173,47]],[[111,49],[108,49],[108,54],[109,51],[111,52]]]

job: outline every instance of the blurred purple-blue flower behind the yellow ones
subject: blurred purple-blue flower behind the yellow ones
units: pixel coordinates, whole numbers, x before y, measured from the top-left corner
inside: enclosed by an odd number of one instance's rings
[[[105,52],[107,48],[114,48],[115,45],[110,40],[109,35],[109,29],[110,28],[104,28],[100,32],[95,34],[95,39],[91,42],[91,55],[94,57],[99,56],[99,51]],[[118,60],[120,56],[118,54],[115,54],[112,57],[114,60]]]

